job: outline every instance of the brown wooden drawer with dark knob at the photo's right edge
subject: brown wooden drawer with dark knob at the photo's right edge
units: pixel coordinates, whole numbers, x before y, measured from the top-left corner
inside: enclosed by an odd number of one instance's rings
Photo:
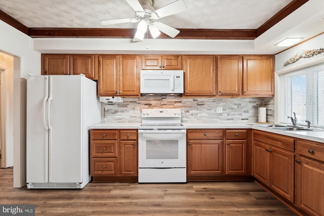
[[[297,140],[295,152],[306,157],[324,161],[324,145],[320,146]]]

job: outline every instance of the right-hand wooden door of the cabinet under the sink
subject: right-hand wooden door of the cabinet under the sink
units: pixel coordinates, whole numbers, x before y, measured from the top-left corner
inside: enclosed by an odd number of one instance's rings
[[[294,153],[270,147],[270,188],[294,202]]]

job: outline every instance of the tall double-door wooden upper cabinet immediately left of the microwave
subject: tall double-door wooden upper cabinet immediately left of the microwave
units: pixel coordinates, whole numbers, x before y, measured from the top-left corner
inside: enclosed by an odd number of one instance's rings
[[[100,55],[98,96],[140,96],[139,56]]]

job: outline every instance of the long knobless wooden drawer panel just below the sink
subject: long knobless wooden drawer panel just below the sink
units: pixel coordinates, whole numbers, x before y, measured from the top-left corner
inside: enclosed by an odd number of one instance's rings
[[[253,131],[253,140],[276,146],[289,151],[294,151],[294,138],[276,135],[268,132]]]

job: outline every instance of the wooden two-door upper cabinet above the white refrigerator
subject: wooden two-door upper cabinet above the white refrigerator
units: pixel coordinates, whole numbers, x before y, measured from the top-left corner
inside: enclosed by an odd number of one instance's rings
[[[84,74],[89,79],[98,79],[97,55],[92,54],[42,54],[42,75]]]

